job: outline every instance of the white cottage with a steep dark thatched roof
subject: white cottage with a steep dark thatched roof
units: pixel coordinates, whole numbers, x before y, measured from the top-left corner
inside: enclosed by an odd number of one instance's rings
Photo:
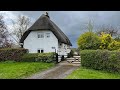
[[[41,17],[23,34],[20,43],[29,53],[56,52],[67,56],[71,42],[61,29],[50,20],[48,14]]]

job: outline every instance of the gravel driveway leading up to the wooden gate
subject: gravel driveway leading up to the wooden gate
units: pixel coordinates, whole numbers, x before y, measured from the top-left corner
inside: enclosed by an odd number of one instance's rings
[[[64,79],[77,68],[79,68],[79,66],[75,66],[67,62],[61,62],[54,68],[43,71],[42,73],[37,73],[26,79]]]

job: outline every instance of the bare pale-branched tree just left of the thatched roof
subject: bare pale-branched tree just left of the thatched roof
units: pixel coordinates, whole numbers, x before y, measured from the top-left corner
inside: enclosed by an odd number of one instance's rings
[[[30,19],[24,15],[19,15],[16,20],[12,20],[12,24],[13,34],[16,36],[17,43],[19,44],[21,37],[30,25]]]

